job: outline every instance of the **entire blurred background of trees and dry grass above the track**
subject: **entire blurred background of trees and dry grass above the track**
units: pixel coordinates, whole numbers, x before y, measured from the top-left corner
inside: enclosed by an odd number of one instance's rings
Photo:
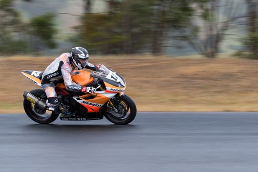
[[[0,0],[0,113],[76,46],[138,111],[258,111],[258,0]]]

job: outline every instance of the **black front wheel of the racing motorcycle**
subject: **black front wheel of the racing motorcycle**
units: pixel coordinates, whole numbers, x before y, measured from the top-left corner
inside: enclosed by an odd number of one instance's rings
[[[104,116],[115,124],[128,124],[132,122],[136,116],[137,109],[134,101],[127,95],[119,97],[112,101],[116,110],[107,105],[107,113]]]

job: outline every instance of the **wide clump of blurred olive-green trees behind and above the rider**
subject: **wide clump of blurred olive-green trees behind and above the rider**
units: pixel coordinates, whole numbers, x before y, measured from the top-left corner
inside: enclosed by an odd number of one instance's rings
[[[92,52],[163,53],[173,29],[183,27],[192,10],[187,0],[107,0],[108,11],[85,13],[73,41]]]

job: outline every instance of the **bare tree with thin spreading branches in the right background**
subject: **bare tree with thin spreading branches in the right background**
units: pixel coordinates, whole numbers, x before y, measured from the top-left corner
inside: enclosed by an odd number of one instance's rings
[[[195,15],[182,36],[200,55],[215,58],[227,31],[243,18],[243,4],[235,0],[194,0]]]

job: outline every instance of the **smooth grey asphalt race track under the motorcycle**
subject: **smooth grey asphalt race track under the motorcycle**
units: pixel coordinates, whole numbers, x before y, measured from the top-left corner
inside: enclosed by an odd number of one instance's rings
[[[124,126],[0,115],[0,172],[258,172],[258,113],[138,113]]]

